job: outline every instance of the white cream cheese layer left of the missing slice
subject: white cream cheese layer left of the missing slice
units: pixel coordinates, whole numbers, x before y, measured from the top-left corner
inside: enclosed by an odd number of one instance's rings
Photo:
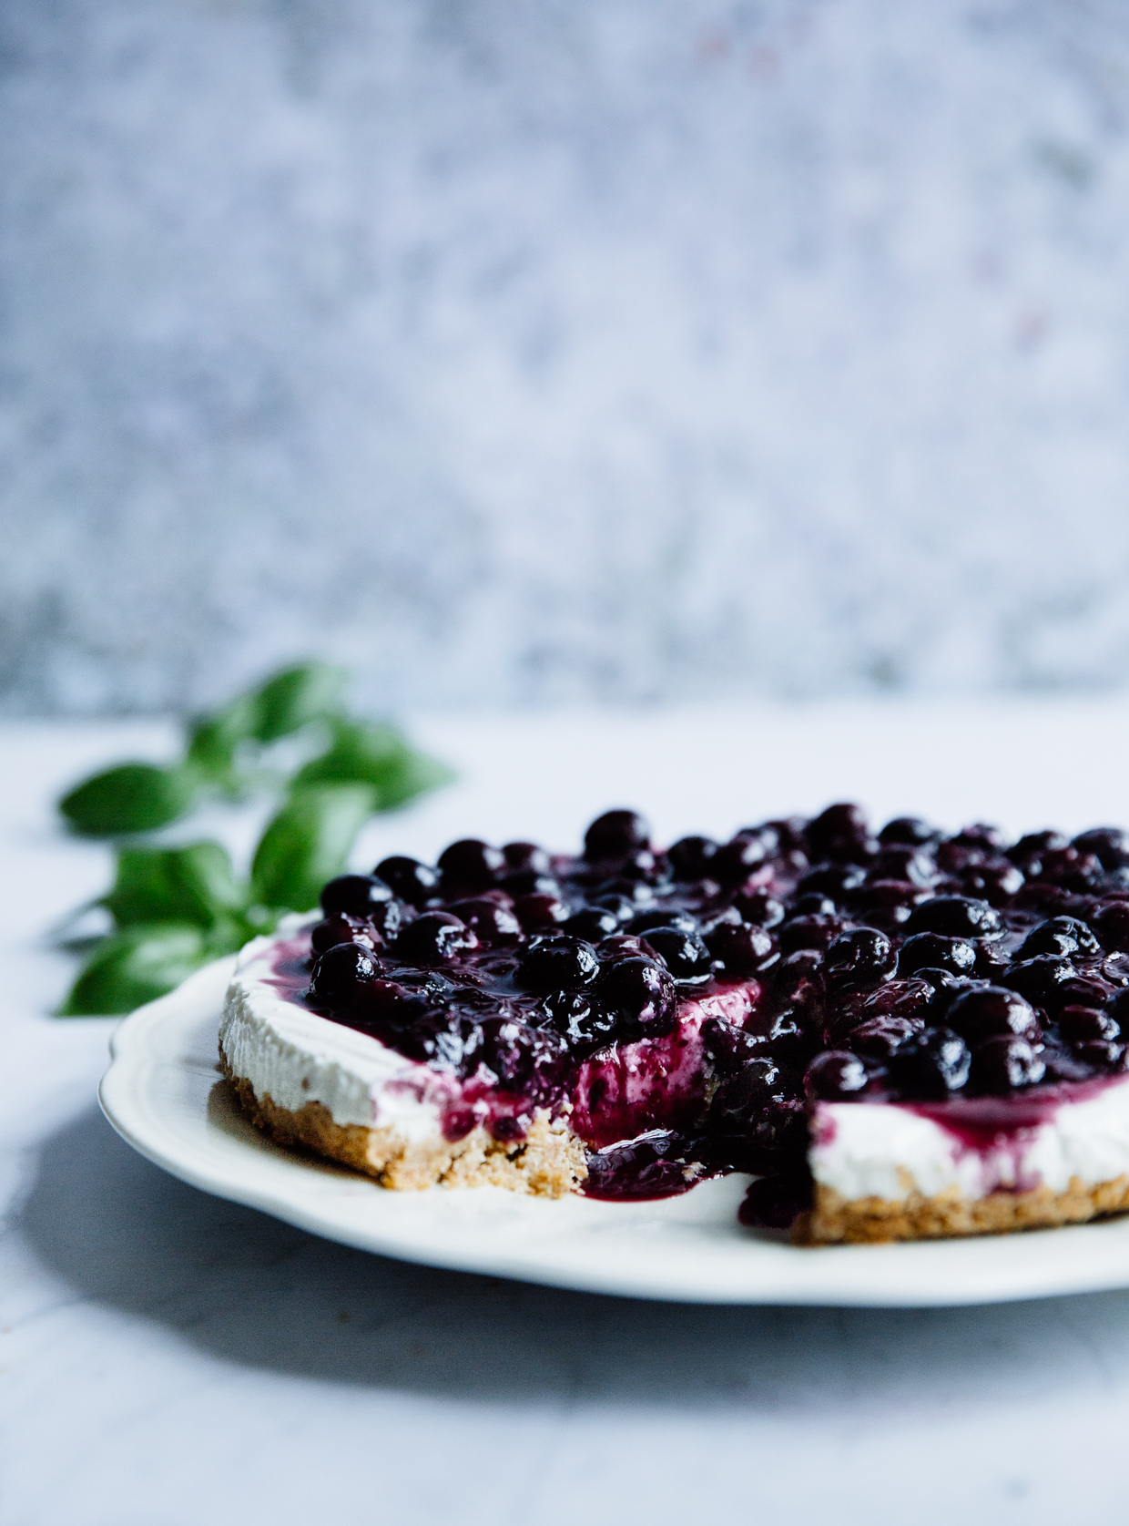
[[[310,920],[287,919],[278,935],[294,937]],[[220,1042],[233,1073],[291,1112],[320,1102],[334,1123],[394,1128],[412,1141],[439,1135],[453,1088],[380,1039],[281,996],[269,984],[276,942],[249,943],[227,987]]]

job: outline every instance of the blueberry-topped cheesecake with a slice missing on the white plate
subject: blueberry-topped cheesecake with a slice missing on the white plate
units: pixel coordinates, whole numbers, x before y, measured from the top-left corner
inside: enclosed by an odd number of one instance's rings
[[[856,806],[580,856],[388,858],[243,954],[220,1056],[282,1144],[386,1187],[755,1177],[801,1244],[1129,1207],[1129,839]]]

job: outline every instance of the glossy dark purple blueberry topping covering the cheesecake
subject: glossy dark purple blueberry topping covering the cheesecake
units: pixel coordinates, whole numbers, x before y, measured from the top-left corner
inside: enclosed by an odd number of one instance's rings
[[[568,1117],[593,1196],[746,1170],[743,1221],[780,1225],[819,1102],[999,1152],[1129,1071],[1117,829],[874,833],[841,804],[659,850],[616,810],[580,856],[464,839],[331,881],[322,909],[278,993],[417,1061],[449,1138]]]

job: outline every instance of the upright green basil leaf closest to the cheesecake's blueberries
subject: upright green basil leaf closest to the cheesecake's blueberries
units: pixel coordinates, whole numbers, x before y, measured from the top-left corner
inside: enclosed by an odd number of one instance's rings
[[[291,911],[316,906],[322,885],[342,873],[371,813],[372,790],[362,784],[294,794],[255,850],[252,900]]]

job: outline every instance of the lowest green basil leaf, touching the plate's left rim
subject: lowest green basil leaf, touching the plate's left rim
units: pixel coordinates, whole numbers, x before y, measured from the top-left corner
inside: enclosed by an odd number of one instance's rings
[[[209,958],[200,928],[128,928],[95,949],[61,1018],[111,1016],[174,990]]]

